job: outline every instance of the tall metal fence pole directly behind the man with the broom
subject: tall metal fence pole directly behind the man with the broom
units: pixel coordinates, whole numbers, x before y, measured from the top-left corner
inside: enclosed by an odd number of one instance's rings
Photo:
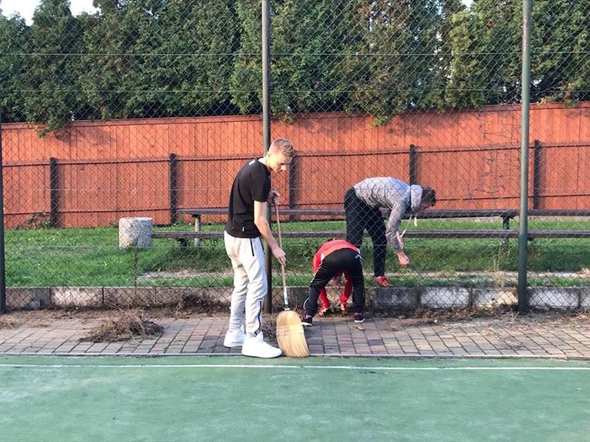
[[[270,145],[270,0],[262,0],[262,152]],[[269,211],[269,222],[272,211]],[[272,253],[265,245],[267,266],[267,296],[265,312],[272,311]]]

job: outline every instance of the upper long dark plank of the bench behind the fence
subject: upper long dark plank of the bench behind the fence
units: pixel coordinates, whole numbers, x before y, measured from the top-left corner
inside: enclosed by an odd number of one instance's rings
[[[279,209],[285,216],[343,216],[344,209]],[[383,209],[384,215],[388,210]],[[225,215],[227,207],[195,207],[192,209],[178,209],[177,213],[197,217],[200,215]],[[427,209],[420,212],[419,218],[515,218],[519,209]],[[530,216],[590,216],[590,209],[528,209]],[[404,215],[409,218],[409,215]]]

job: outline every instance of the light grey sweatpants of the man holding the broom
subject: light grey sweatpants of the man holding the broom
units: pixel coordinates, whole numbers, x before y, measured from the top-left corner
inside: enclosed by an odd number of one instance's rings
[[[224,232],[225,250],[233,268],[229,330],[242,326],[245,310],[247,335],[258,335],[262,303],[267,294],[265,252],[260,238],[235,238]]]

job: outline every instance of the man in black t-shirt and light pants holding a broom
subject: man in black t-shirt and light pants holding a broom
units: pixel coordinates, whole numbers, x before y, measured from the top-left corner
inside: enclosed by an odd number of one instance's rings
[[[268,222],[269,201],[278,204],[278,193],[271,189],[271,172],[287,170],[294,149],[287,139],[276,139],[265,157],[253,159],[236,175],[229,195],[229,214],[224,242],[233,267],[233,292],[229,328],[224,346],[242,346],[242,355],[277,357],[279,348],[262,337],[262,303],[267,294],[264,238],[274,257],[285,265],[285,252],[274,237]],[[245,310],[245,315],[244,315]],[[242,326],[245,317],[245,330]]]

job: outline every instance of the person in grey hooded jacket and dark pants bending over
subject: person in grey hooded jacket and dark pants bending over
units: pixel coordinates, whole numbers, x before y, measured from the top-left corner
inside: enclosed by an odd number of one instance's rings
[[[436,204],[432,188],[410,185],[393,177],[366,178],[352,186],[344,197],[346,240],[361,247],[365,229],[373,240],[373,281],[381,287],[391,287],[385,276],[387,244],[391,245],[400,265],[410,263],[404,253],[404,243],[397,229],[406,213],[418,213]],[[381,208],[391,209],[384,225]]]

